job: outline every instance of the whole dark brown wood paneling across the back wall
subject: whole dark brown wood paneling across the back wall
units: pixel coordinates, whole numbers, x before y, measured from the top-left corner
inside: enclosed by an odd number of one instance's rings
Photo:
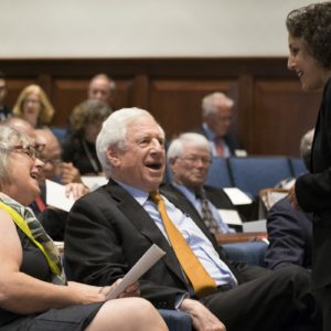
[[[281,58],[89,58],[0,60],[12,106],[28,84],[40,84],[65,126],[86,98],[89,78],[110,75],[117,84],[114,109],[150,110],[168,139],[201,124],[201,99],[215,90],[235,100],[232,130],[248,153],[299,156],[301,136],[318,113],[320,93],[303,93]]]

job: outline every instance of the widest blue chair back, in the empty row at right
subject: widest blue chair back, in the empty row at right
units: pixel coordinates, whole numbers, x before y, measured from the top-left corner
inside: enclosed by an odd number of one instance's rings
[[[234,185],[255,196],[292,175],[286,157],[229,158],[228,166]]]

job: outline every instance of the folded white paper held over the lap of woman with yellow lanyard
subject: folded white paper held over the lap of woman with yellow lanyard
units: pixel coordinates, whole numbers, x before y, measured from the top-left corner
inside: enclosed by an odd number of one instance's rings
[[[166,252],[158,245],[153,244],[135,264],[135,266],[122,278],[121,282],[111,290],[106,297],[107,300],[115,299],[129,285],[136,282],[148,269],[150,269]]]

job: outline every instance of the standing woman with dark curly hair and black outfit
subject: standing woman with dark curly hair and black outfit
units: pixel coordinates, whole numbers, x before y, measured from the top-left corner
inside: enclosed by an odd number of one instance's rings
[[[289,200],[295,207],[313,212],[312,290],[331,330],[331,2],[291,11],[288,67],[303,90],[323,89],[311,150],[310,173],[297,179]]]

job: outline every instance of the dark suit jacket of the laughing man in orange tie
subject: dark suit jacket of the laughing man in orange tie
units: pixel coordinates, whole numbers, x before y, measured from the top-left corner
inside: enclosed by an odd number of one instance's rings
[[[259,267],[228,261],[201,218],[185,209],[186,202],[169,192],[161,193],[192,217],[239,284],[266,273]],[[143,207],[110,180],[74,204],[65,234],[65,261],[74,280],[106,286],[124,277],[152,244],[167,255],[142,276],[141,296],[157,308],[173,308],[178,295],[188,290],[178,259]]]

